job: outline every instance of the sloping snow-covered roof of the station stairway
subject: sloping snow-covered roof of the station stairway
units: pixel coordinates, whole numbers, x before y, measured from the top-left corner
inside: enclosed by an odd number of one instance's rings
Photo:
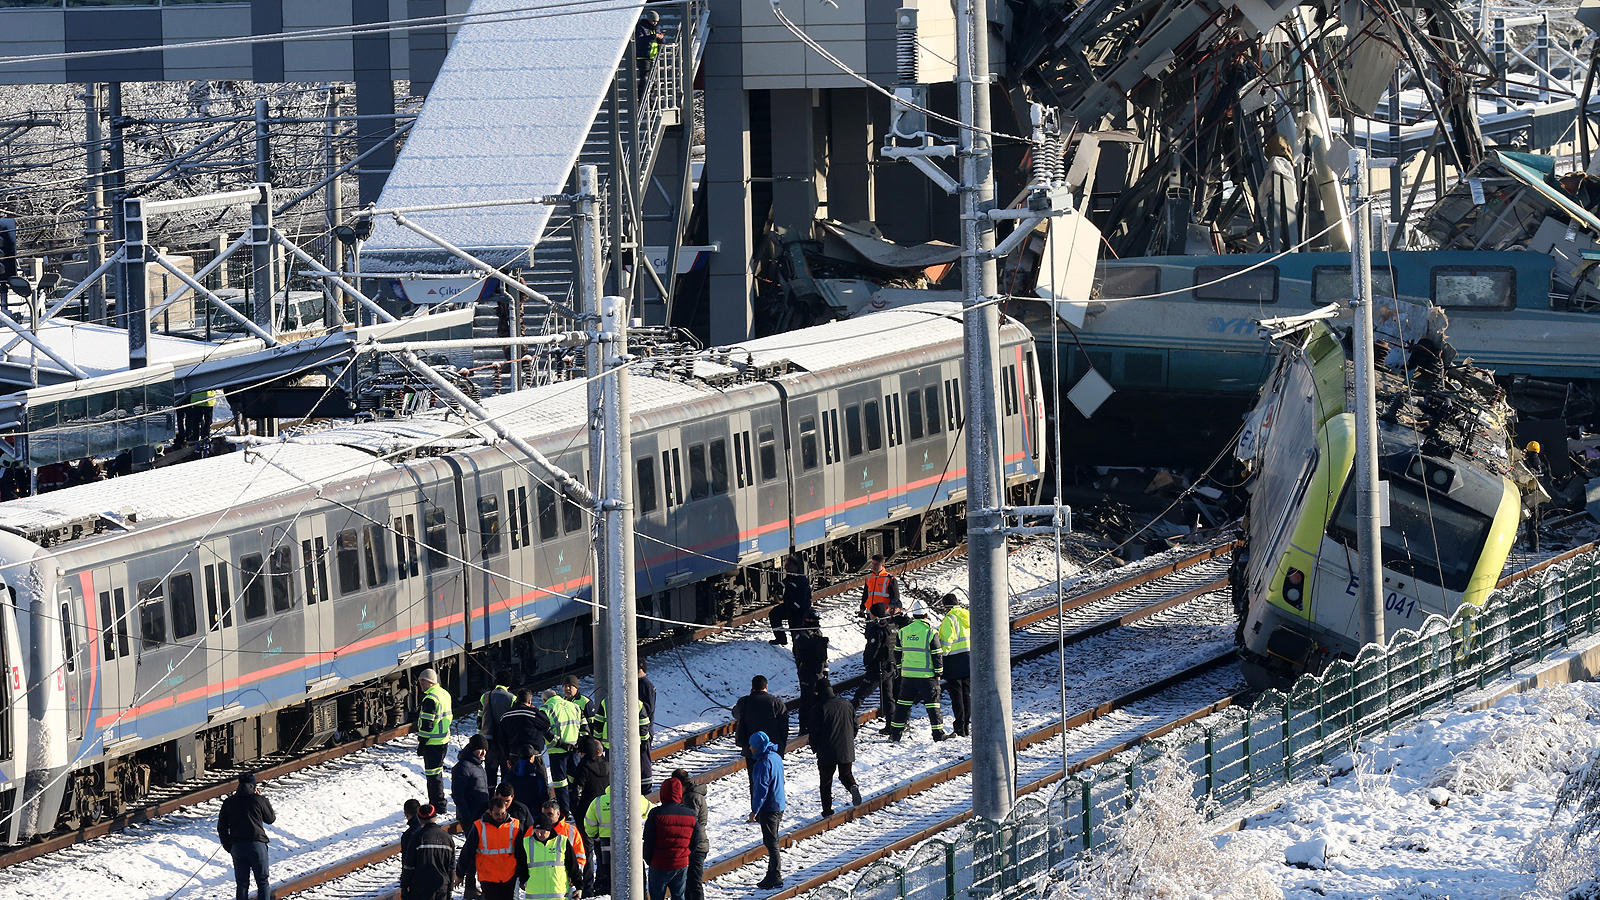
[[[462,24],[378,208],[563,192],[642,6],[642,0],[605,0]],[[520,0],[474,0],[470,14],[522,8],[526,3]],[[528,261],[550,210],[480,207],[406,218],[490,264],[506,266]],[[374,219],[362,264],[368,272],[464,267],[387,216]]]

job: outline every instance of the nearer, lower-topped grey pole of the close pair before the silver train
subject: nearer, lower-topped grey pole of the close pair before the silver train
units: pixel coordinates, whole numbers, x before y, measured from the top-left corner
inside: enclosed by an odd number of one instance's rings
[[[600,301],[594,354],[603,354],[605,384],[605,498],[600,543],[606,567],[606,620],[611,655],[606,658],[606,729],[611,735],[611,897],[645,900],[645,830],[638,764],[638,658],[634,618],[634,471],[629,418],[626,296]]]

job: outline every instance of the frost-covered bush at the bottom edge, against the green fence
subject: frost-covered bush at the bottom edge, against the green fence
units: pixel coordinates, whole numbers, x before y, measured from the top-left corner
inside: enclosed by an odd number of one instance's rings
[[[1083,900],[1282,900],[1246,834],[1218,847],[1208,814],[1195,804],[1182,761],[1163,756],[1131,809],[1106,828],[1106,841],[1078,860],[1058,897]]]

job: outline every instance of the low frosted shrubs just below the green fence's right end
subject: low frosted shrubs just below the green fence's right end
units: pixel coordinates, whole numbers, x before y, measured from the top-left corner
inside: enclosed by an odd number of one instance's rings
[[[1462,796],[1504,791],[1541,775],[1573,772],[1600,746],[1592,724],[1597,709],[1578,690],[1542,690],[1525,713],[1435,769],[1429,785]]]

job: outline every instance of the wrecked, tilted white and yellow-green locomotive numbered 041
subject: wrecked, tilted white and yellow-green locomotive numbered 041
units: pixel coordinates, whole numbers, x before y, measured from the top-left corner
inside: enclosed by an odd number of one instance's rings
[[[1402,304],[1411,306],[1411,304]],[[1538,485],[1512,444],[1493,375],[1458,367],[1443,314],[1410,352],[1379,344],[1378,469],[1384,634],[1482,605]],[[1354,367],[1346,333],[1302,325],[1278,341],[1238,456],[1253,474],[1248,549],[1235,559],[1245,676],[1283,687],[1362,647]]]

